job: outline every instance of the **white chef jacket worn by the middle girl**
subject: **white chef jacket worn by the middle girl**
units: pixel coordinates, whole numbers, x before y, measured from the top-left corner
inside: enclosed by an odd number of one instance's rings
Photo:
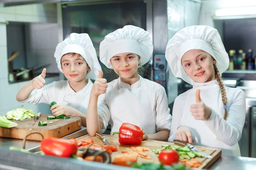
[[[132,85],[120,78],[109,82],[106,93],[99,97],[98,113],[103,124],[101,129],[109,122],[111,132],[119,131],[122,123],[127,122],[139,126],[147,134],[153,134],[170,130],[172,122],[163,86],[141,76]]]

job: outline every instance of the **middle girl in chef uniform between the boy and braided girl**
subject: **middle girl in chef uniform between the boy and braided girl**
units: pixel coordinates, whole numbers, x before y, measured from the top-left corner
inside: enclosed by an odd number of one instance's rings
[[[100,72],[93,85],[86,120],[91,136],[108,122],[111,132],[128,122],[144,129],[143,139],[167,141],[172,116],[165,89],[138,74],[152,52],[152,40],[142,28],[124,26],[105,36],[100,43],[100,60],[119,78],[107,83]]]

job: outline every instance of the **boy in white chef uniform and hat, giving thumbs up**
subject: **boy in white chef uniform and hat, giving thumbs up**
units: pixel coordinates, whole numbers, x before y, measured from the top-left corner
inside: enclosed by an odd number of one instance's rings
[[[51,107],[56,116],[81,117],[82,126],[86,126],[87,106],[93,83],[101,66],[95,48],[88,34],[70,34],[70,37],[59,43],[54,54],[58,69],[67,80],[52,82],[45,85],[46,69],[41,75],[32,79],[20,89],[16,99],[19,102],[47,103],[55,101]]]

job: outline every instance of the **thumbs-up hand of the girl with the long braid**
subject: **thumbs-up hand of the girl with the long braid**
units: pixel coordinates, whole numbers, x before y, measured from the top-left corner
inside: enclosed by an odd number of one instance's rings
[[[190,112],[196,120],[207,120],[212,114],[212,109],[201,100],[199,89],[195,92],[195,103],[190,105]]]

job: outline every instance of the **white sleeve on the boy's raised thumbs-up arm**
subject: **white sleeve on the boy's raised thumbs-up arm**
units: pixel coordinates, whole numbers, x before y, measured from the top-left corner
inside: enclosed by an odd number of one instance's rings
[[[59,83],[58,83],[59,84]],[[45,85],[41,89],[34,89],[29,98],[21,101],[23,103],[33,103],[34,105],[38,103],[48,103],[52,102],[52,96],[56,94],[55,86],[57,85],[56,82],[52,82],[48,85]],[[53,94],[55,93],[55,94]]]

